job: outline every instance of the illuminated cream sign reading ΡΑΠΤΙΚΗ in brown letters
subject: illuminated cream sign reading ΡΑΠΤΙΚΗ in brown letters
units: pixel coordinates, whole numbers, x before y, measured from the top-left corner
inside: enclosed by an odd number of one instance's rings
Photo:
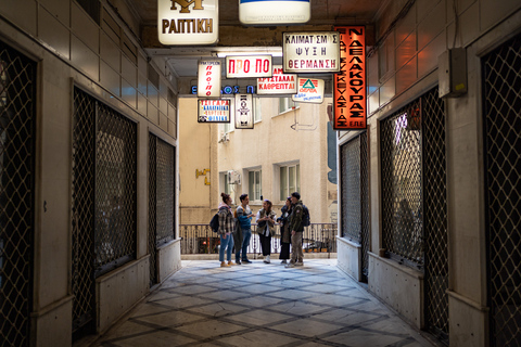
[[[214,44],[219,38],[218,0],[157,0],[163,44]]]

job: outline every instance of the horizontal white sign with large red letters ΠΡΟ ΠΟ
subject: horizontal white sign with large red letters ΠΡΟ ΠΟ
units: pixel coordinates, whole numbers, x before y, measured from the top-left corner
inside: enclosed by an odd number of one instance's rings
[[[226,56],[226,78],[271,77],[271,55]]]

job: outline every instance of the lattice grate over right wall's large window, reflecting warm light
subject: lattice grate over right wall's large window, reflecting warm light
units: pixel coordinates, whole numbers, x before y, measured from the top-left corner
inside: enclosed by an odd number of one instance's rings
[[[420,101],[381,124],[383,248],[399,261],[423,265]]]

